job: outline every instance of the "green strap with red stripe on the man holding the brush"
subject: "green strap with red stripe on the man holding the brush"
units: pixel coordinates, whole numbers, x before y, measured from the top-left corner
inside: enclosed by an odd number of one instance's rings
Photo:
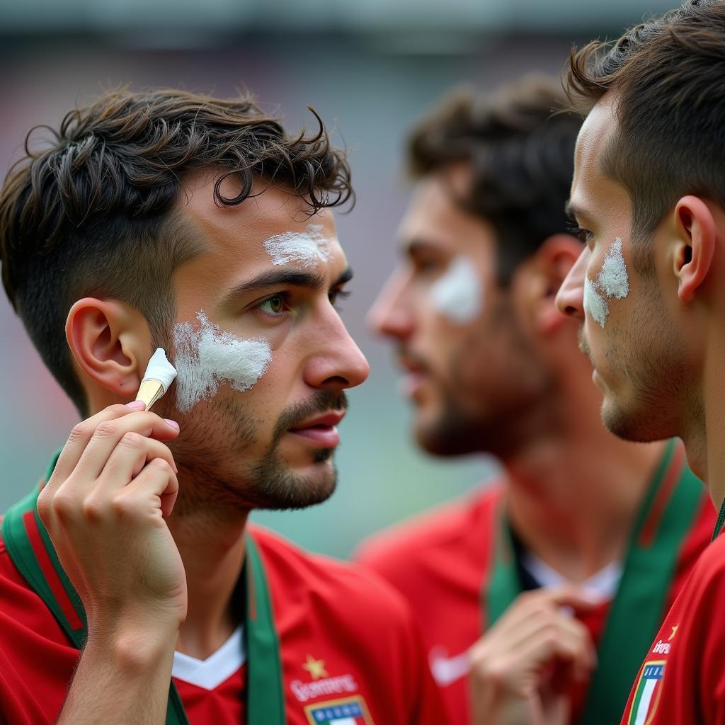
[[[48,476],[53,471],[58,454],[51,461]],[[2,537],[12,562],[20,571],[25,581],[41,597],[46,606],[57,619],[70,642],[82,649],[86,642],[86,615],[80,597],[73,589],[70,580],[58,560],[48,532],[38,516],[37,501],[40,489],[36,489],[20,502],[7,510],[2,523]],[[43,551],[37,552],[28,534],[27,516],[32,515],[39,534],[36,540],[41,542]],[[33,527],[31,526],[31,529]],[[246,540],[247,558],[244,563],[242,581],[247,586],[244,597],[244,636],[247,644],[247,723],[249,725],[286,725],[284,708],[284,689],[279,641],[274,624],[270,592],[265,576],[262,558],[257,551],[257,544],[249,534]],[[66,602],[59,602],[43,572],[38,556],[47,555],[57,574]],[[46,571],[47,570],[46,563]],[[65,605],[65,610],[64,610]],[[76,616],[72,616],[71,607]],[[71,613],[69,618],[68,613]],[[75,626],[73,624],[75,623]],[[173,681],[170,683],[169,703],[166,711],[166,725],[189,725],[181,697]]]

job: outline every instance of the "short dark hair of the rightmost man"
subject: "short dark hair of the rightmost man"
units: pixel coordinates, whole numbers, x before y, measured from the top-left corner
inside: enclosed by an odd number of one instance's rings
[[[587,113],[610,91],[618,133],[601,168],[630,196],[633,238],[648,239],[685,194],[725,206],[725,2],[689,0],[572,51],[572,107]]]

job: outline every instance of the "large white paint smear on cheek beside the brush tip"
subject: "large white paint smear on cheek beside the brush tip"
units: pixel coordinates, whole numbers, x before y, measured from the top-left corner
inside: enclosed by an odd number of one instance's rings
[[[202,310],[196,319],[200,328],[190,322],[174,326],[176,405],[182,413],[214,397],[223,383],[249,390],[272,360],[272,348],[264,338],[245,340],[220,330]]]

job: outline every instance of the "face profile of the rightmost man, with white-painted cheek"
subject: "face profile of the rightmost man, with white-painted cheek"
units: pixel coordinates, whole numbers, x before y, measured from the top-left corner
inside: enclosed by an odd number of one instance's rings
[[[605,425],[621,438],[653,441],[682,434],[687,354],[667,258],[668,230],[634,239],[629,194],[602,170],[616,133],[613,104],[602,100],[576,144],[569,207],[586,246],[557,304],[581,320],[580,347],[604,394]]]

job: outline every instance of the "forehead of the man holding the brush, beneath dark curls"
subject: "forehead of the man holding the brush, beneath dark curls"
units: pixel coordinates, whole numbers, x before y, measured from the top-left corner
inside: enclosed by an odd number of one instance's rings
[[[212,173],[191,178],[186,195],[181,196],[179,215],[188,225],[191,236],[201,242],[202,251],[180,268],[179,284],[188,283],[196,289],[208,290],[208,294],[223,291],[273,265],[265,241],[282,234],[309,234],[310,231],[328,241],[329,262],[320,264],[319,271],[324,272],[325,266],[336,271],[344,268],[344,253],[329,210],[310,215],[310,207],[298,196],[261,181],[255,182],[252,188],[252,194],[257,196],[233,206],[217,204],[216,178],[217,174]],[[232,197],[240,188],[239,181],[230,178],[222,183],[220,192]],[[290,262],[286,266],[296,265]]]

